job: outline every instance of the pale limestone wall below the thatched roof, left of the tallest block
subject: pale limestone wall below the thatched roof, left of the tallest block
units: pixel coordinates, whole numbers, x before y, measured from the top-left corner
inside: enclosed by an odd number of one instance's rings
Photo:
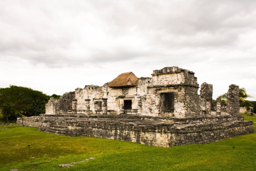
[[[77,111],[86,110],[85,100],[91,99],[90,109],[93,113],[96,113],[95,105],[101,102],[103,98],[107,99],[107,110],[108,113],[122,113],[120,110],[124,110],[121,103],[124,100],[132,100],[132,109],[136,110],[137,114],[141,114],[141,96],[147,93],[147,86],[151,78],[139,78],[136,87],[121,87],[121,88],[110,88],[109,83],[104,84],[102,87],[88,85],[84,89],[77,88],[75,91],[75,98],[77,99]],[[99,114],[102,114],[102,109]]]

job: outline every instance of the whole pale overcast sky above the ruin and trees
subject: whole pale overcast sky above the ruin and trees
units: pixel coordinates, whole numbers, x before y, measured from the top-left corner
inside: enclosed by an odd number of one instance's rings
[[[48,95],[178,66],[256,97],[256,1],[0,1],[0,87]],[[256,100],[256,98],[248,98]]]

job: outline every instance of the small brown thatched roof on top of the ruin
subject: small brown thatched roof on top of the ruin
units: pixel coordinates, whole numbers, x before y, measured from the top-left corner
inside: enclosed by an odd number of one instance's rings
[[[136,77],[132,72],[122,73],[110,82],[108,87],[137,86],[137,80],[138,77]]]

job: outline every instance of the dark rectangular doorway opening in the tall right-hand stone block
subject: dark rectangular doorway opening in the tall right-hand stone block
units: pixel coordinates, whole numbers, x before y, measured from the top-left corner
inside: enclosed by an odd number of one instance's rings
[[[174,112],[174,93],[161,94],[161,113],[167,114]]]

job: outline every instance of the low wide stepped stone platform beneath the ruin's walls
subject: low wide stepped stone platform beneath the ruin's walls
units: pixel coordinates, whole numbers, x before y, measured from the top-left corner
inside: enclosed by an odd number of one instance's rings
[[[18,118],[17,123],[65,136],[92,136],[152,146],[205,144],[254,133],[242,116],[151,117],[134,115],[49,115]]]

